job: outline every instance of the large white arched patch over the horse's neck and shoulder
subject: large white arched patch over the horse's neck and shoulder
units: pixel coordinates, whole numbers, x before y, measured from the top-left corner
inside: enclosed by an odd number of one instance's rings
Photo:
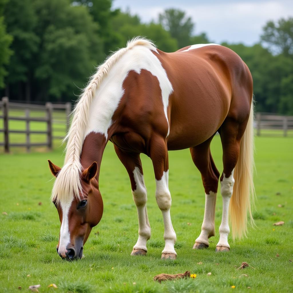
[[[142,69],[151,72],[159,81],[162,94],[162,110],[168,122],[167,108],[169,96],[173,91],[173,87],[165,69],[155,54],[147,47],[135,46],[132,50],[125,52],[116,62],[97,89],[91,103],[89,120],[84,138],[90,132],[98,132],[105,135],[106,139],[108,138],[108,129],[113,123],[113,114],[118,108],[119,102],[124,94],[124,89],[122,88],[123,81],[127,77],[129,71],[134,70],[140,74]],[[169,131],[168,122],[168,135]]]

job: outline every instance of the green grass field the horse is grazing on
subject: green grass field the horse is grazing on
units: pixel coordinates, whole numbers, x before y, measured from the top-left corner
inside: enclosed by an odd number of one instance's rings
[[[208,249],[191,249],[204,213],[201,177],[188,150],[170,152],[171,216],[178,253],[175,261],[160,260],[163,219],[154,196],[153,168],[146,156],[142,156],[142,162],[152,229],[147,256],[130,256],[137,240],[136,207],[127,172],[109,143],[100,173],[103,218],[89,236],[85,257],[69,263],[56,253],[59,218],[49,200],[53,180],[46,161],[51,159],[62,166],[61,148],[50,153],[1,154],[0,292],[29,292],[27,288],[36,284],[41,285],[40,292],[293,292],[292,146],[292,138],[256,138],[257,226],[250,227],[243,240],[233,242],[229,237],[229,253],[214,252],[222,214],[220,195],[216,236],[210,239]],[[218,136],[212,154],[222,170]],[[285,221],[283,226],[272,225],[280,220]],[[243,261],[250,267],[236,270]],[[153,281],[157,274],[186,270],[197,277],[162,284]],[[207,276],[209,272],[211,276]],[[47,287],[52,283],[58,288]],[[18,286],[23,289],[19,291]]]

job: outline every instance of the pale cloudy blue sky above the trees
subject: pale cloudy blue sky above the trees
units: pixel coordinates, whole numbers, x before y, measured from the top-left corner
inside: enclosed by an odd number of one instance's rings
[[[269,20],[293,17],[293,1],[288,0],[114,0],[113,8],[137,14],[142,22],[158,21],[159,13],[166,8],[186,11],[195,23],[194,34],[206,32],[215,43],[242,42],[253,45],[260,39]]]

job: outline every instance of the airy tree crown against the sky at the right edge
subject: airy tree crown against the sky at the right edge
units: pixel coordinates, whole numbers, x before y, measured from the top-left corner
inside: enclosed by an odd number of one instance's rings
[[[293,56],[293,18],[268,21],[263,27],[261,41],[273,54]]]

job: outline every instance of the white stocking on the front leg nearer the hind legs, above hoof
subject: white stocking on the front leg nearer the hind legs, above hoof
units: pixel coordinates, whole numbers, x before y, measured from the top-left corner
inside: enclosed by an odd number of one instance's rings
[[[169,170],[167,172],[163,172],[163,176],[160,180],[156,180],[156,201],[162,211],[164,220],[165,248],[162,253],[174,253],[177,255],[174,249],[176,233],[173,229],[170,216],[171,194],[168,188],[168,175]]]

